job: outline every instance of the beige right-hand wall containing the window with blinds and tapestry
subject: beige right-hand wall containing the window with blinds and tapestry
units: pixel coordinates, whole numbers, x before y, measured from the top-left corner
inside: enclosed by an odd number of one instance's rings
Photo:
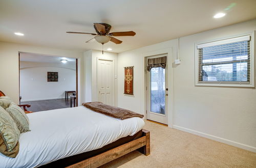
[[[180,38],[181,64],[177,57],[177,39],[118,54],[118,106],[145,115],[144,57],[147,53],[168,54],[168,124],[230,145],[256,152],[255,88],[196,87],[195,43],[237,36],[256,30],[250,20]],[[253,55],[255,57],[255,55]],[[123,67],[134,66],[134,96],[123,94]],[[172,104],[173,103],[173,104]]]

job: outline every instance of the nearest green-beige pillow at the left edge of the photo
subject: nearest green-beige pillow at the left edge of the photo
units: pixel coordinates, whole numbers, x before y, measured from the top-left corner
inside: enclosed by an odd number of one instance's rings
[[[8,112],[0,106],[0,152],[16,157],[19,151],[19,130]]]

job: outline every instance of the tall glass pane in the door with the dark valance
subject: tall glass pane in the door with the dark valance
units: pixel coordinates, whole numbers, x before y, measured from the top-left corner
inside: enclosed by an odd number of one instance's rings
[[[165,69],[151,69],[151,111],[165,115]]]

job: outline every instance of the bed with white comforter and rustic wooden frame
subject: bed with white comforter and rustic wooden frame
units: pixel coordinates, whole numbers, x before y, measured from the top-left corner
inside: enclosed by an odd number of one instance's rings
[[[97,167],[126,153],[150,154],[141,118],[119,120],[84,106],[28,114],[16,158],[0,153],[0,167]]]

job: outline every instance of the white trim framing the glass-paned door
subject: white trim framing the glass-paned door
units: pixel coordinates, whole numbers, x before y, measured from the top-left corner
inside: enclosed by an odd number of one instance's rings
[[[173,110],[174,110],[174,92],[173,92],[173,49],[172,47],[169,48],[163,48],[159,50],[153,50],[150,52],[145,52],[142,54],[142,60],[141,62],[143,63],[143,69],[142,69],[142,74],[141,78],[144,77],[144,83],[141,85],[141,91],[144,93],[144,106],[141,107],[142,111],[144,111],[144,116],[146,119],[146,104],[147,104],[147,99],[146,99],[146,57],[151,57],[154,55],[161,55],[161,54],[167,54],[167,68],[168,68],[168,127],[173,127]]]

